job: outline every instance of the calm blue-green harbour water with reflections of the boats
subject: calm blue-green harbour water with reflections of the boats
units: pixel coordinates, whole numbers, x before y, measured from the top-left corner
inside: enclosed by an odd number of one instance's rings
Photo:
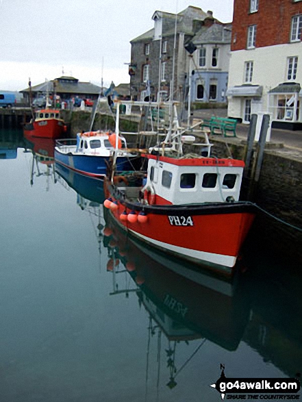
[[[216,402],[221,364],[301,373],[299,273],[249,239],[234,281],[152,255],[104,232],[99,181],[0,134],[0,401]]]

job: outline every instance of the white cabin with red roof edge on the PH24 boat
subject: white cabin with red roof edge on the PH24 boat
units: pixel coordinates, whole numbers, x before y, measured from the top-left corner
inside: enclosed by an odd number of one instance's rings
[[[174,159],[147,155],[147,183],[155,203],[174,205],[238,201],[244,162],[232,159]],[[153,198],[154,199],[154,198]]]

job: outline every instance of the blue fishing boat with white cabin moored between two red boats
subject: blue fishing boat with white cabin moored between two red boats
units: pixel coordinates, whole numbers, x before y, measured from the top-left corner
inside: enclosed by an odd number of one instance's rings
[[[57,140],[55,162],[82,175],[102,179],[108,171],[114,152],[116,171],[133,169],[132,162],[137,154],[127,149],[125,138],[103,131],[87,131],[77,134],[76,139]]]

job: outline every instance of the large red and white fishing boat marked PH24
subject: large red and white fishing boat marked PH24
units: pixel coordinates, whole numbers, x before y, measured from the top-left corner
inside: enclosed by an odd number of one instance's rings
[[[232,273],[255,217],[255,205],[239,201],[244,162],[185,155],[194,136],[175,127],[150,149],[147,172],[112,173],[104,181],[105,207],[129,234],[184,260]]]

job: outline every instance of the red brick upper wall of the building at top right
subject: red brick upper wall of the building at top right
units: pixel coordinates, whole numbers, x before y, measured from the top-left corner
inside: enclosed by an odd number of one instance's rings
[[[290,42],[292,16],[302,14],[302,1],[259,0],[258,11],[250,14],[250,0],[234,0],[231,51],[247,48],[247,27],[257,25],[256,47]]]

